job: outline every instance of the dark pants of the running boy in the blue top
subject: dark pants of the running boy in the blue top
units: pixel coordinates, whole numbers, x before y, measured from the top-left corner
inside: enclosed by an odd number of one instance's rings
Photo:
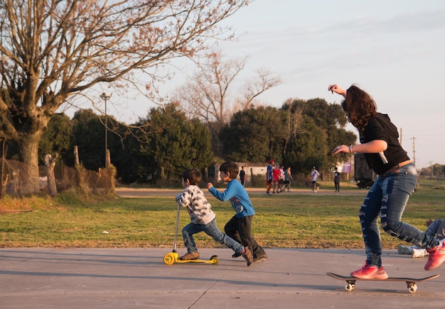
[[[237,218],[236,215],[230,219],[224,227],[225,234],[230,238],[240,242],[244,247],[249,247],[252,250],[254,257],[260,257],[264,249],[258,245],[257,241],[252,237],[252,219],[253,215]]]

